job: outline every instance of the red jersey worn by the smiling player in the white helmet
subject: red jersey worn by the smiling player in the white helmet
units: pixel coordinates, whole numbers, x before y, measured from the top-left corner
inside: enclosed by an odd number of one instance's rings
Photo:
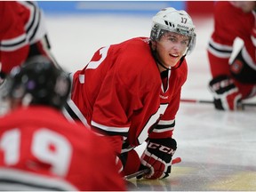
[[[148,42],[137,37],[102,47],[73,76],[72,100],[93,127],[120,135],[111,137],[119,153],[123,140],[134,147],[148,136],[172,136],[181,86],[187,79],[184,60],[180,68],[169,71],[164,92]]]

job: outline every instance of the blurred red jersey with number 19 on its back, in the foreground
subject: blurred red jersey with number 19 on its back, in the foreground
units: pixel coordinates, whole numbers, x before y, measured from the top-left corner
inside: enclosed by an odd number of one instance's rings
[[[125,190],[115,157],[106,140],[55,109],[20,108],[0,118],[2,190]]]

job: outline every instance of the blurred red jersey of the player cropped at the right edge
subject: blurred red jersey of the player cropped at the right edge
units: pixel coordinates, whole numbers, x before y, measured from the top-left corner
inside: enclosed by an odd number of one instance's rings
[[[230,76],[228,60],[236,37],[244,40],[248,60],[256,63],[255,46],[252,43],[252,28],[255,18],[252,12],[244,13],[230,2],[216,2],[214,8],[214,31],[208,46],[208,59],[212,77]],[[256,68],[256,67],[255,67]],[[252,93],[253,84],[241,84],[234,79],[242,99]]]

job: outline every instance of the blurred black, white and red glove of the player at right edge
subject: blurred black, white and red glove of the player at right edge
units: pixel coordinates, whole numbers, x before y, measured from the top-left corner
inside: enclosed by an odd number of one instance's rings
[[[237,110],[242,108],[242,94],[228,76],[217,76],[209,83],[216,109]]]

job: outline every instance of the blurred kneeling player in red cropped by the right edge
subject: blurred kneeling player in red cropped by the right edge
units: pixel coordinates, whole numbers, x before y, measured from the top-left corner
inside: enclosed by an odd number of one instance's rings
[[[209,88],[217,109],[239,109],[242,100],[255,96],[255,4],[254,1],[215,4],[208,58],[212,73]],[[233,46],[237,37],[244,42],[241,48]]]

